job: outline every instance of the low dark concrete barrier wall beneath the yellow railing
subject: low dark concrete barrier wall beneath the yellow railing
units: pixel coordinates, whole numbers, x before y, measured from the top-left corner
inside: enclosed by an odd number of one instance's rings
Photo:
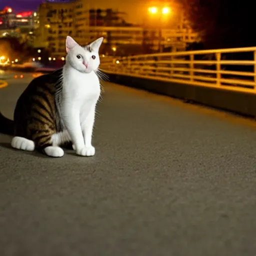
[[[247,116],[256,116],[256,94],[225,89],[162,82],[125,75],[108,74],[111,82],[144,89],[203,105],[228,110]]]

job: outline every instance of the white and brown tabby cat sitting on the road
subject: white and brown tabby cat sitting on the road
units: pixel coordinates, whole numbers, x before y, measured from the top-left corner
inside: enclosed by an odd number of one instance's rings
[[[14,119],[0,113],[0,132],[14,135],[13,148],[40,149],[52,157],[64,154],[71,142],[76,154],[92,156],[96,103],[100,96],[96,70],[103,37],[85,47],[66,37],[66,61],[61,69],[34,78],[17,100]]]

